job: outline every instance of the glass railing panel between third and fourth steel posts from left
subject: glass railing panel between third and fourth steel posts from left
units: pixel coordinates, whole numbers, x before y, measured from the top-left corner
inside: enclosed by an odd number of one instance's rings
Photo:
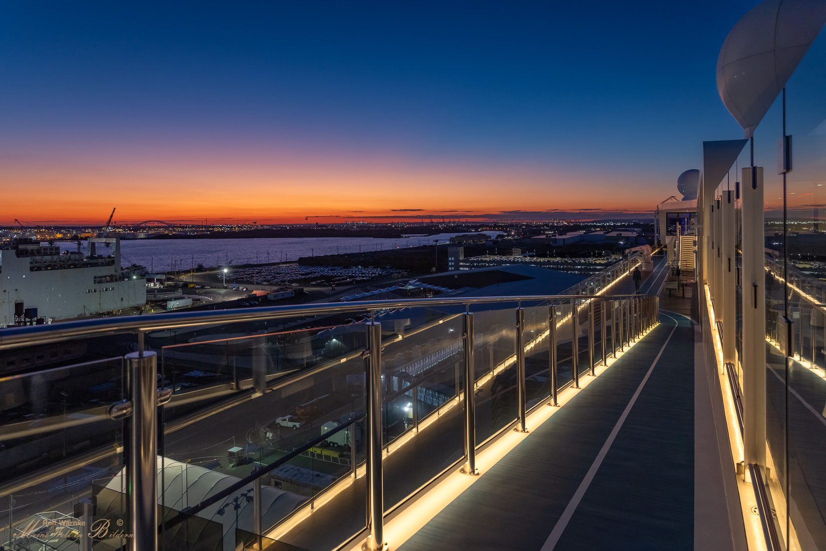
[[[476,361],[492,369],[477,379],[477,443],[516,419],[516,304],[474,313]],[[478,373],[478,372],[477,372]]]

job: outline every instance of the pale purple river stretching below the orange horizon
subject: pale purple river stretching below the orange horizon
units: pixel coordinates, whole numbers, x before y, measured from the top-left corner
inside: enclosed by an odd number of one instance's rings
[[[495,236],[500,232],[479,232]],[[140,264],[151,272],[186,270],[203,264],[237,266],[295,260],[301,256],[322,256],[376,250],[401,249],[447,243],[455,235],[410,235],[398,239],[373,237],[271,237],[261,239],[123,240],[121,264]],[[74,243],[59,243],[64,250],[77,250]]]

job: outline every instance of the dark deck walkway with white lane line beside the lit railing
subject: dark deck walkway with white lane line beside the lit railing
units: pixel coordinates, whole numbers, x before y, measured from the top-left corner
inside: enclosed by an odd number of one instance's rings
[[[662,292],[667,274],[665,258],[655,256],[653,270],[643,275],[640,292]],[[634,283],[624,278],[611,292],[634,292]],[[675,306],[690,301],[672,298]],[[482,466],[482,476],[410,539],[390,541],[390,548],[607,549],[622,542],[627,549],[662,549],[664,545],[691,549],[697,482],[695,324],[672,311],[662,311],[659,321],[610,368],[575,391],[553,416],[529,427],[529,434],[515,449],[489,468]],[[597,334],[597,342],[600,339]],[[586,348],[581,347],[581,354]],[[581,361],[587,359],[582,356]],[[440,430],[423,431],[416,436],[415,446],[403,447],[386,458],[386,507],[416,492],[415,481],[405,482],[414,466],[431,463],[426,469],[430,472],[440,464],[449,467],[448,442],[462,438],[462,419],[461,408],[454,408],[439,420]],[[700,430],[709,430],[709,424],[710,420]],[[427,439],[444,439],[444,448]],[[444,456],[420,451],[434,449],[444,449]],[[719,465],[710,471],[719,471]],[[703,499],[700,517],[715,507],[724,511],[721,496]],[[351,485],[273,549],[294,549],[292,545],[335,548],[352,535],[346,533],[348,527],[363,519],[364,500],[365,485]],[[394,511],[387,520],[405,514]],[[724,523],[717,532],[730,540],[729,525]],[[713,534],[701,537],[706,543],[719,544]],[[357,541],[353,539],[351,545]],[[281,544],[288,545],[279,548]]]

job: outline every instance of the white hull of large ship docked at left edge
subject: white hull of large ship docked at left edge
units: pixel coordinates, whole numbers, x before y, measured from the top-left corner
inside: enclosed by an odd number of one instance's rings
[[[13,250],[0,251],[0,324],[14,323],[14,303],[36,306],[37,316],[55,321],[146,304],[143,278],[94,283],[114,275],[115,266],[29,271],[29,260]]]

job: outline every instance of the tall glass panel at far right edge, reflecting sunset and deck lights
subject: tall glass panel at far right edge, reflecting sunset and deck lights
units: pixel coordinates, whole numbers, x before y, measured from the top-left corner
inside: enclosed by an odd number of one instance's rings
[[[795,361],[790,361],[786,373],[779,370],[768,373],[767,385],[778,392],[785,390],[788,400],[786,409],[778,411],[786,413],[786,497],[792,505],[790,520],[803,549],[807,547],[806,542],[817,546],[826,541],[826,489],[822,482],[826,478],[826,425],[823,422],[826,324],[824,308],[819,306],[824,304],[826,280],[824,64],[826,33],[821,31],[786,85],[785,127],[777,128],[776,133],[772,131],[764,138],[772,139],[776,146],[785,131],[791,141],[791,166],[785,177],[785,260],[789,282],[787,308],[799,316],[795,316],[792,324]],[[777,156],[776,147],[773,158],[765,161],[766,173],[777,172],[774,169]],[[786,379],[786,388],[782,379]]]

